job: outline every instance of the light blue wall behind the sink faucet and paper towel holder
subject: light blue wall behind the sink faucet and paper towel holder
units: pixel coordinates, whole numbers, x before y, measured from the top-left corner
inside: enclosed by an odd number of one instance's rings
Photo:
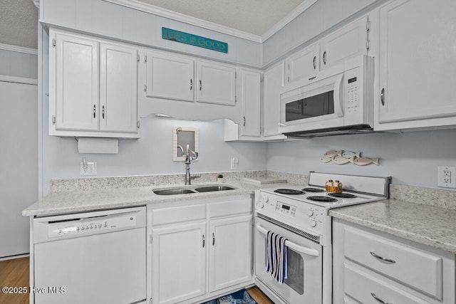
[[[46,126],[43,128],[43,193],[49,192],[50,179],[80,177],[79,163],[83,157],[97,162],[98,177],[184,174],[184,162],[172,160],[172,127],[178,126],[199,128],[199,157],[192,162],[192,173],[231,171],[231,157],[239,159],[237,171],[266,169],[267,144],[224,142],[221,120],[193,122],[151,115],[141,120],[139,140],[119,140],[119,154],[78,154],[74,138],[48,136]]]

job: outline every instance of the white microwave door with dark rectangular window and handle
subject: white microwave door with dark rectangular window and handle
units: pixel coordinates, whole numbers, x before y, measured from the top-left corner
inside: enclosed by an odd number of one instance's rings
[[[281,132],[343,126],[343,69],[280,94]]]

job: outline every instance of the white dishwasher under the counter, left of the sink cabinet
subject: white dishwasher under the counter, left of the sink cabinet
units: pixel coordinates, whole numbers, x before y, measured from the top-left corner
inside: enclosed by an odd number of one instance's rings
[[[145,303],[145,214],[142,206],[33,219],[30,303]]]

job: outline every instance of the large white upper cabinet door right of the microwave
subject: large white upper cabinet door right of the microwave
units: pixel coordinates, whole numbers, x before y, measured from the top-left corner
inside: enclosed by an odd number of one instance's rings
[[[456,115],[455,16],[453,0],[380,9],[380,124]]]

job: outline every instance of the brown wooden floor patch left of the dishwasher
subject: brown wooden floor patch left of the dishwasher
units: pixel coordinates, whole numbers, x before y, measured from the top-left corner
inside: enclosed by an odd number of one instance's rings
[[[4,293],[0,291],[0,304],[28,303],[28,258],[0,261],[0,288],[27,288],[27,293]],[[24,290],[24,288],[22,288]]]

